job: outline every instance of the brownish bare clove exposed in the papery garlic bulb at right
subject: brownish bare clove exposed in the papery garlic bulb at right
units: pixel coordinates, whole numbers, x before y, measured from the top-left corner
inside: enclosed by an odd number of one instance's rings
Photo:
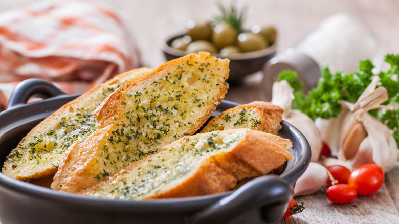
[[[354,116],[352,116],[354,117]],[[352,124],[350,124],[352,125]],[[353,125],[352,129],[344,137],[341,149],[345,159],[350,160],[356,155],[360,143],[367,137],[367,132],[361,122]]]

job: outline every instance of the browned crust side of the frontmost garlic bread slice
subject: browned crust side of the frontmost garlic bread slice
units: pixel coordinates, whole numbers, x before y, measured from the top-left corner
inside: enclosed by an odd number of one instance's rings
[[[268,138],[269,135],[256,130],[247,130],[245,138],[240,144],[227,152],[218,153],[205,159],[193,172],[194,174],[182,183],[143,199],[221,193],[232,189],[240,180],[269,173],[292,158],[286,148],[273,142],[279,140],[289,146],[291,141],[278,136],[277,138]],[[251,169],[251,172],[242,174],[242,171]]]

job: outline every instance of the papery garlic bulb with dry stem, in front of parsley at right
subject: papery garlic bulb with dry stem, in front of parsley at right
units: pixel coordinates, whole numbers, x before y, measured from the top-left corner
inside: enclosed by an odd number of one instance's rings
[[[376,88],[378,82],[379,77],[375,76],[356,103],[341,101],[341,104],[350,112],[342,127],[338,157],[342,160],[352,160],[352,164],[356,166],[362,165],[359,162],[360,159],[369,156],[365,153],[370,153],[370,150],[362,148],[362,151],[359,151],[359,147],[368,137],[373,162],[387,172],[395,166],[397,161],[397,144],[393,138],[393,131],[368,113],[372,109],[393,108],[392,105],[381,105],[387,101],[388,93],[384,87]],[[358,153],[363,155],[358,155]]]

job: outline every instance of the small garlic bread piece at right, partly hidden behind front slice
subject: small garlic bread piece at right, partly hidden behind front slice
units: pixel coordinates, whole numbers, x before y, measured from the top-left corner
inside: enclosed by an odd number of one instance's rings
[[[250,128],[277,135],[284,110],[270,102],[254,101],[223,111],[201,133],[233,128]]]

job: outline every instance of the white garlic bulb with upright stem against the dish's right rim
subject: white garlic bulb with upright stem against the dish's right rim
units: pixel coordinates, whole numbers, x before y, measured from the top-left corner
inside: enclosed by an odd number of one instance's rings
[[[301,111],[292,109],[293,99],[293,89],[287,81],[282,80],[273,84],[271,103],[283,108],[283,120],[292,124],[305,136],[312,150],[311,161],[316,162],[323,148],[323,140],[313,120]]]

